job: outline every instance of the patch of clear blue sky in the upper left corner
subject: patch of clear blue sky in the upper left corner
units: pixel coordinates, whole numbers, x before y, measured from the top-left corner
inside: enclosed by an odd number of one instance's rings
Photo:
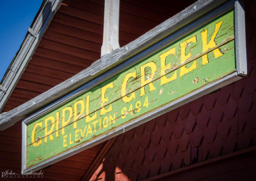
[[[24,40],[43,0],[0,0],[0,80]]]

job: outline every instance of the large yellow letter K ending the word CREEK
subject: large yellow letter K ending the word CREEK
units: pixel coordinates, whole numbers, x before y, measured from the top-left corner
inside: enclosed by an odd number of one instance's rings
[[[209,41],[209,43],[207,43],[207,31],[208,31],[208,29],[201,32],[201,34],[202,34],[202,43],[203,43],[203,51],[202,52],[205,52],[209,48],[214,48],[216,46],[216,43],[215,43],[214,39],[215,39],[218,31],[220,30],[220,26],[221,26],[222,22],[223,21],[218,22],[215,25],[215,30],[214,30],[214,33],[212,34],[212,38]],[[221,54],[219,48],[216,48],[215,50],[212,50],[212,52],[214,53],[215,59],[217,59],[218,57],[223,55],[223,54]],[[208,58],[207,58],[207,54],[205,54],[205,55],[202,56],[202,65],[207,64],[207,63],[208,63]]]

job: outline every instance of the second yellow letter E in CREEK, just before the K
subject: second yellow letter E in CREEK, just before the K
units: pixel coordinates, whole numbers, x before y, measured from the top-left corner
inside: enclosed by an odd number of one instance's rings
[[[182,64],[184,61],[188,60],[191,57],[191,53],[186,55],[186,47],[188,47],[188,44],[190,42],[196,43],[196,36],[193,36],[192,38],[189,38],[189,40],[180,43],[180,64]],[[186,68],[186,65],[182,66],[180,68],[180,76],[189,73],[189,71],[192,71],[193,69],[196,69],[196,61],[193,62],[190,68]]]

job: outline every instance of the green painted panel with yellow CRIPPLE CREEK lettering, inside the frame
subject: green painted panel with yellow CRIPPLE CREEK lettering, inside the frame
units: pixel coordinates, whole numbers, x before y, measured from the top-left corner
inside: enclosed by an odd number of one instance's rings
[[[232,10],[29,122],[26,168],[108,135],[235,71]]]

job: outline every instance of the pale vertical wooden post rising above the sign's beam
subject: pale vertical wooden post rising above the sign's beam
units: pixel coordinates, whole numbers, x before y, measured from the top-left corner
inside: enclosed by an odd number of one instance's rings
[[[101,57],[119,48],[119,0],[105,0],[104,31]]]

